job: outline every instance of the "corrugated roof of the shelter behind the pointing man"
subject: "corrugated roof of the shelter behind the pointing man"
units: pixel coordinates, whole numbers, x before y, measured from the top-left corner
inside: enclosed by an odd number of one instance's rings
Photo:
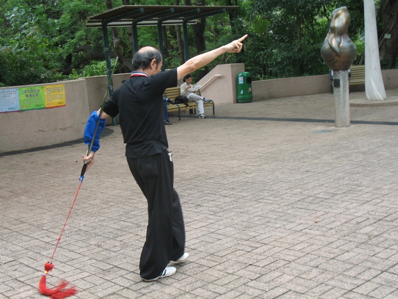
[[[134,20],[141,20],[138,26],[157,25],[159,18],[166,18],[163,25],[181,25],[184,17],[191,19],[188,23],[196,23],[199,18],[209,13],[219,13],[236,9],[238,6],[180,6],[180,5],[121,5],[108,9],[85,20],[86,27],[131,26]],[[160,16],[161,15],[161,16]]]

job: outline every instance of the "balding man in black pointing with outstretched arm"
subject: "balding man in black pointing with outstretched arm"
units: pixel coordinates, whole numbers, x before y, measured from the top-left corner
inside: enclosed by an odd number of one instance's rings
[[[173,157],[168,149],[164,124],[163,92],[177,81],[223,53],[239,53],[247,35],[207,53],[191,58],[178,68],[161,72],[162,55],[153,47],[134,54],[130,79],[105,103],[101,119],[119,114],[126,144],[127,163],[148,202],[148,227],[140,258],[140,276],[154,281],[173,275],[172,262],[184,261],[185,227],[180,199],[174,184]],[[99,116],[98,111],[97,117]],[[87,170],[94,151],[83,155]]]

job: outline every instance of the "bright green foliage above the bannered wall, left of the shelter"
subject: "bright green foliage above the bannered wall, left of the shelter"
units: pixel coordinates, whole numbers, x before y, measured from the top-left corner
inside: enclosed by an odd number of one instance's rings
[[[75,50],[89,44],[103,52],[101,32],[84,27],[84,20],[104,10],[102,0],[0,1],[0,84],[14,86],[54,82],[68,64],[81,55]],[[73,55],[74,54],[74,55]]]

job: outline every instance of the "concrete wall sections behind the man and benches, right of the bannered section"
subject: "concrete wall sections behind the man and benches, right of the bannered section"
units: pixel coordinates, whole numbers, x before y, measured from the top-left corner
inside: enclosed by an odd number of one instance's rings
[[[201,94],[205,98],[214,101],[215,105],[237,103],[237,75],[245,71],[243,63],[217,65],[200,81],[196,82],[203,85],[214,75],[221,74],[220,78],[214,78],[208,85],[201,89]],[[383,70],[383,80],[385,88],[398,88],[398,69]],[[113,86],[117,89],[123,80],[127,80],[130,74],[119,74],[113,76]],[[195,78],[194,78],[195,79]],[[90,77],[87,80],[87,92],[89,94],[89,110],[93,112],[98,110],[105,88],[107,85],[106,76]],[[195,81],[194,81],[195,82]],[[181,85],[182,80],[178,83]],[[329,75],[306,76],[282,79],[270,79],[253,81],[253,101],[309,95],[317,93],[329,93],[330,81]],[[365,85],[355,85],[350,87],[351,91],[363,91]],[[107,120],[111,124],[111,120]]]

